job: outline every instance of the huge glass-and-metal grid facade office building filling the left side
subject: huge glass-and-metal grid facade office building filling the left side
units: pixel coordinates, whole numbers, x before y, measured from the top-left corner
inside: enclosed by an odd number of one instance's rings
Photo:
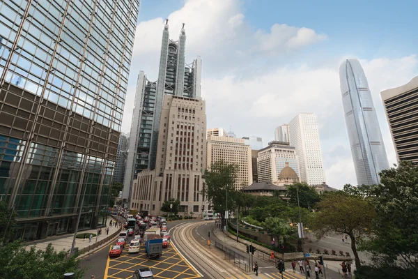
[[[15,237],[105,225],[139,0],[0,2],[0,196]],[[83,202],[82,202],[83,201]]]

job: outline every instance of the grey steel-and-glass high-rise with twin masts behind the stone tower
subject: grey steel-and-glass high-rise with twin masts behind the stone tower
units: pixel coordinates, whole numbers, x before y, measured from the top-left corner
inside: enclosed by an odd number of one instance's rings
[[[201,57],[197,56],[192,63],[186,64],[185,42],[184,25],[178,40],[171,40],[167,20],[162,31],[158,80],[151,82],[144,72],[139,73],[130,131],[132,147],[127,158],[123,187],[125,201],[130,197],[132,179],[144,169],[155,169],[164,94],[197,99],[201,96]]]

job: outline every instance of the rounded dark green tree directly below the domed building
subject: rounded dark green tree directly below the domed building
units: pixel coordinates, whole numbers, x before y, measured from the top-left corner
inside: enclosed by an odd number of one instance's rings
[[[288,186],[287,190],[287,196],[290,198],[289,202],[294,206],[297,206],[297,190],[299,190],[300,207],[312,209],[315,204],[320,201],[319,194],[316,192],[314,187],[308,186],[306,182],[297,182]]]

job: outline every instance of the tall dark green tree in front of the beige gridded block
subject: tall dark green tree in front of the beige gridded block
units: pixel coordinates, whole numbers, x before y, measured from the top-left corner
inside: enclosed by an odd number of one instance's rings
[[[238,166],[229,164],[223,160],[212,163],[210,169],[205,171],[206,199],[212,204],[213,210],[220,214],[224,221],[226,205],[228,209],[235,208],[235,176]]]

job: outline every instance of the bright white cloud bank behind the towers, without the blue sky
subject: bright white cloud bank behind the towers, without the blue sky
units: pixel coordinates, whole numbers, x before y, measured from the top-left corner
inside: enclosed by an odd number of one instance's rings
[[[339,89],[339,63],[344,57],[327,57],[327,64],[279,64],[277,57],[327,39],[309,27],[291,27],[282,22],[270,31],[254,30],[245,19],[239,0],[188,0],[169,15],[172,39],[186,23],[187,60],[203,58],[202,96],[206,99],[208,128],[233,127],[239,137],[257,135],[264,145],[274,137],[274,128],[298,112],[315,112],[320,127],[327,183],[341,188],[355,184],[346,123]],[[155,80],[160,59],[164,19],[141,22],[136,31],[130,86],[125,101],[123,131],[129,132],[134,90],[139,70]],[[327,43],[330,43],[327,41]],[[332,61],[330,66],[330,59]],[[378,112],[389,163],[396,156],[380,100],[380,91],[408,82],[417,75],[418,59],[362,60]]]

